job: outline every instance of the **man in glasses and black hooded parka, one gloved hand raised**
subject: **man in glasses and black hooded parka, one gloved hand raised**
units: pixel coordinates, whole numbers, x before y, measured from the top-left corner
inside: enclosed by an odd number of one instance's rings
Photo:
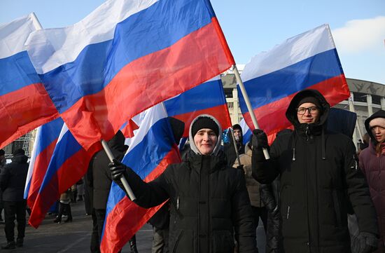
[[[356,164],[355,146],[346,135],[326,129],[329,109],[317,90],[297,93],[286,111],[294,131],[274,140],[269,160],[262,153],[262,148],[269,148],[265,133],[253,131],[253,177],[262,184],[279,177],[286,253],[350,253],[351,207],[360,231],[357,252],[373,252],[377,247],[376,213]]]

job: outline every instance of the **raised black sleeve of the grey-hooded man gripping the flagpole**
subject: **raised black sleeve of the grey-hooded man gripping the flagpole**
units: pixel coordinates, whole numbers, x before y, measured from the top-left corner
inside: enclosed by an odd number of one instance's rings
[[[169,198],[168,184],[165,178],[167,169],[157,179],[146,183],[130,167],[127,167],[126,179],[137,198],[134,203],[144,208],[150,208],[162,204]],[[123,189],[123,185],[120,182],[118,184]]]

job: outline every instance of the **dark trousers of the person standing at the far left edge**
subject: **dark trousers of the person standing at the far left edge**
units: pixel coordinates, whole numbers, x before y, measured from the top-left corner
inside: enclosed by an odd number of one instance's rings
[[[4,204],[4,217],[6,226],[4,231],[6,232],[6,238],[8,242],[15,240],[15,219],[18,221],[18,239],[22,239],[25,236],[25,210],[27,208],[27,201],[3,201]]]

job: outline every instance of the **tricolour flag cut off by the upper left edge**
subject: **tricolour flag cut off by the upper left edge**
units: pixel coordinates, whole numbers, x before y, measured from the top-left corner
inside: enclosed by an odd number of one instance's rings
[[[0,25],[0,148],[59,115],[25,50],[37,28],[33,14]]]

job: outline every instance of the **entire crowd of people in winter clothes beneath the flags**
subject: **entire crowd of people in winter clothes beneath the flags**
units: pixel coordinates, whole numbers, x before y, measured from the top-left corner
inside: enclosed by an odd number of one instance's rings
[[[328,130],[329,111],[321,93],[302,90],[286,110],[294,129],[279,132],[272,144],[263,130],[253,130],[244,142],[239,125],[223,144],[220,123],[202,114],[190,124],[182,162],[148,183],[120,162],[128,147],[119,131],[108,143],[116,159],[110,163],[104,150],[96,153],[84,178],[60,196],[53,221],[71,222],[71,203],[84,200],[92,216],[90,252],[100,252],[111,183],[125,191],[120,182],[125,177],[137,205],[168,200],[148,221],[153,253],[258,252],[259,221],[267,253],[385,253],[385,111],[367,118],[367,137],[358,151],[346,132]],[[169,121],[178,143],[184,123]],[[7,240],[1,248],[14,249],[23,246],[25,236],[28,163],[22,149],[13,152],[11,163],[5,161],[0,151],[0,214],[3,209]],[[135,235],[130,249],[138,252]]]

